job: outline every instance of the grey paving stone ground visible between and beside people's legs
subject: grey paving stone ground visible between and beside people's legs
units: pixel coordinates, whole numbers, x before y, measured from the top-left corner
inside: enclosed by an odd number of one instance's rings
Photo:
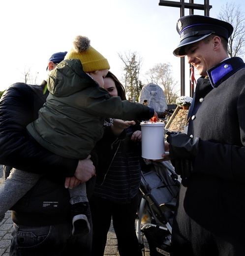
[[[0,186],[3,183],[2,165],[0,165]],[[135,222],[135,225],[137,220]],[[11,211],[5,214],[4,220],[0,223],[0,256],[9,256],[9,246],[11,241],[11,232],[13,230],[13,222],[11,219]],[[143,249],[142,256],[150,256],[150,250],[145,237],[142,237],[145,248]],[[125,245],[127,246],[127,245]],[[107,236],[107,244],[104,256],[119,256],[117,249],[117,238],[111,225]]]

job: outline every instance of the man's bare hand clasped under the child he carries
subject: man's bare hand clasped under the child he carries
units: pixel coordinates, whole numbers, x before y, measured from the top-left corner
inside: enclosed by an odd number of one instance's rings
[[[91,155],[87,159],[79,160],[74,176],[82,183],[87,182],[95,175],[95,167],[90,160]]]

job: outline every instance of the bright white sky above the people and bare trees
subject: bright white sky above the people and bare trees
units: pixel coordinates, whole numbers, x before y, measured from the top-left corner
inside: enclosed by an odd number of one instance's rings
[[[216,18],[227,1],[210,0],[210,17]],[[242,0],[232,2],[243,6]],[[204,0],[194,3],[204,4]],[[204,11],[195,10],[194,14],[204,15]],[[176,31],[179,17],[179,8],[159,6],[159,0],[4,1],[0,9],[0,91],[24,82],[23,73],[29,68],[37,75],[37,84],[41,83],[46,79],[50,56],[69,51],[78,34],[91,39],[91,45],[108,59],[119,79],[123,64],[118,53],[136,51],[143,60],[143,83],[145,72],[154,64],[170,63],[180,84],[180,58],[173,55],[180,40]]]

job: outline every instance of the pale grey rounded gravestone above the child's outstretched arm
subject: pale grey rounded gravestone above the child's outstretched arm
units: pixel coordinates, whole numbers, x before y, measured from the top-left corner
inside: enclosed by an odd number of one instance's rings
[[[139,103],[143,103],[144,99],[148,100],[149,106],[156,112],[164,112],[168,109],[164,92],[159,85],[153,83],[145,85],[140,91]]]

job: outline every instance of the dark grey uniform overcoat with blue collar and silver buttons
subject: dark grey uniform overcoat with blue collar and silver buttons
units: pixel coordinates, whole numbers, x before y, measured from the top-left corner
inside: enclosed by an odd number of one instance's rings
[[[187,133],[201,140],[194,173],[182,180],[173,256],[245,255],[245,63],[227,59],[208,75],[188,113]]]

